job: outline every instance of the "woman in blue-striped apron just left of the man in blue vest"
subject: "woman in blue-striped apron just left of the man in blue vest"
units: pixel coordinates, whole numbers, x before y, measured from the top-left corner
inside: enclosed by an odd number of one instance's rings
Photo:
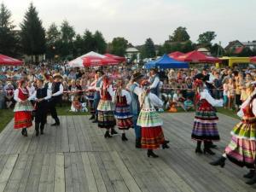
[[[113,103],[115,103],[114,116],[117,119],[119,130],[123,131],[122,141],[127,141],[125,130],[133,127],[132,115],[130,113],[131,95],[125,90],[124,81],[118,80],[117,90],[114,92]]]

